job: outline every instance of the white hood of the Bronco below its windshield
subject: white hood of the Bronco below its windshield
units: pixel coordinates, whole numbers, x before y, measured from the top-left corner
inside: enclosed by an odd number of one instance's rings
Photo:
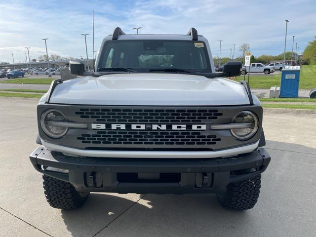
[[[58,84],[50,103],[80,105],[249,105],[236,81],[185,74],[112,74]]]

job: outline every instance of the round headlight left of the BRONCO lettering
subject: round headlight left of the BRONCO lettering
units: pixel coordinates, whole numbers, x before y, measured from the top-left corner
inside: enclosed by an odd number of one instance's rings
[[[58,110],[47,110],[45,111],[40,118],[40,125],[46,135],[52,138],[61,138],[63,137],[68,130],[67,126],[63,126],[62,123],[60,126],[57,126],[56,122],[66,122],[66,117]]]

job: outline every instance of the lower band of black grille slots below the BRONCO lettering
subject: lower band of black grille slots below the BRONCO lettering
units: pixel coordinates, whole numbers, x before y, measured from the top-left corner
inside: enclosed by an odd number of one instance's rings
[[[215,145],[221,141],[200,131],[95,131],[77,139],[85,144],[108,145]]]

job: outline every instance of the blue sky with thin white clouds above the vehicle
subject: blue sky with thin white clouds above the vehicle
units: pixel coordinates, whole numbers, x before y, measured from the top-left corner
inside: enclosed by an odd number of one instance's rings
[[[278,55],[284,51],[285,20],[289,20],[286,50],[292,50],[295,36],[302,53],[316,35],[315,0],[2,0],[0,1],[0,62],[25,62],[46,53],[93,57],[92,9],[94,9],[95,50],[102,39],[120,27],[135,34],[186,34],[191,27],[206,37],[213,56],[235,55],[242,43],[250,44],[254,56]],[[236,57],[235,56],[235,57]]]

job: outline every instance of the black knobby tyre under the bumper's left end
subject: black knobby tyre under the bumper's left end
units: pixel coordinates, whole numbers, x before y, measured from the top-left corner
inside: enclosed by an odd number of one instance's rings
[[[44,194],[50,206],[75,209],[84,204],[89,192],[78,192],[70,183],[43,175]]]

